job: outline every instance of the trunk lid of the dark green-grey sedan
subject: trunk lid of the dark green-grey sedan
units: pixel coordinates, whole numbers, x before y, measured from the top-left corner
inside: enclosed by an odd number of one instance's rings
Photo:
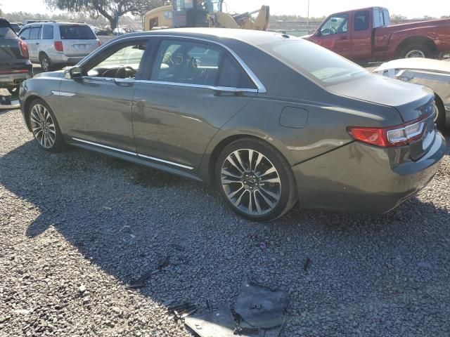
[[[418,108],[434,98],[430,88],[375,74],[328,86],[327,89],[337,95],[395,107],[405,122],[420,117]]]

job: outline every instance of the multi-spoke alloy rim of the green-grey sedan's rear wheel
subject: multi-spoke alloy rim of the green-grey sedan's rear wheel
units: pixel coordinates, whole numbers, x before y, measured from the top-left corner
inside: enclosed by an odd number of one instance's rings
[[[281,178],[274,164],[256,150],[240,149],[226,157],[221,185],[237,209],[250,216],[270,213],[281,198]]]

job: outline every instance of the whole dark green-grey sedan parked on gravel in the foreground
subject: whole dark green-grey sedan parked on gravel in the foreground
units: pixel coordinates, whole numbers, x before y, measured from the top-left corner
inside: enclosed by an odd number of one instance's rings
[[[25,81],[20,105],[44,150],[75,145],[211,183],[252,220],[297,201],[390,211],[446,150],[430,89],[270,32],[127,34]]]

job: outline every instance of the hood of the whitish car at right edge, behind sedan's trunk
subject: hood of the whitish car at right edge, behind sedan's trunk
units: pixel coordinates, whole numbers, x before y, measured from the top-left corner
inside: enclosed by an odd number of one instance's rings
[[[380,65],[375,72],[384,72],[385,70],[426,70],[432,72],[443,72],[450,74],[450,62],[442,60],[432,60],[430,58],[404,58],[393,60]]]

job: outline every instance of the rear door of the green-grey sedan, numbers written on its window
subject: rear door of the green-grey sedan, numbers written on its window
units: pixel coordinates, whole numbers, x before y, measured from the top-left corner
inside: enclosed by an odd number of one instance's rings
[[[219,128],[257,93],[231,53],[189,39],[163,39],[151,75],[136,85],[136,152],[158,164],[195,171]]]

